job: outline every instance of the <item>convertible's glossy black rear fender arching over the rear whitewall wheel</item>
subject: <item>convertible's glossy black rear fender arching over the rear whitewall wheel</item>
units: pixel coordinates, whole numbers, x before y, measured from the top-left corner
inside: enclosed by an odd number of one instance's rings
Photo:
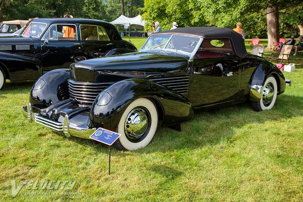
[[[285,91],[285,77],[282,72],[273,64],[263,62],[258,65],[254,74],[251,76],[249,97],[251,101],[257,102],[262,97],[265,80],[273,75],[277,81],[278,94]]]

